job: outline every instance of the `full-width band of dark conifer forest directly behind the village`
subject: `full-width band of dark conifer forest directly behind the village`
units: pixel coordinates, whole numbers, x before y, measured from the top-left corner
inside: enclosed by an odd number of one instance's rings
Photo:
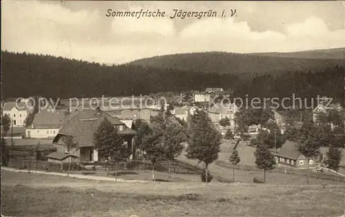
[[[344,101],[344,67],[311,73],[309,70],[280,74],[201,73],[138,65],[99,65],[61,57],[1,52],[1,98],[130,96],[157,92],[231,89],[236,97],[329,96]]]

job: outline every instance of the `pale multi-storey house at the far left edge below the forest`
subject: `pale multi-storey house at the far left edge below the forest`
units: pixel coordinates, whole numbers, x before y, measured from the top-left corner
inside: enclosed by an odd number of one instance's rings
[[[8,114],[10,116],[14,127],[25,125],[24,121],[29,111],[28,107],[23,103],[6,102],[2,107],[3,115]]]

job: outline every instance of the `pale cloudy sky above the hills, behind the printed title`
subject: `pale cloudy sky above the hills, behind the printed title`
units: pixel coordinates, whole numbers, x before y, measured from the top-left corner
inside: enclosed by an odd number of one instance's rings
[[[107,17],[109,9],[166,17]],[[170,19],[174,9],[217,17]],[[186,52],[344,47],[345,1],[1,1],[1,50],[11,52],[121,64]]]

